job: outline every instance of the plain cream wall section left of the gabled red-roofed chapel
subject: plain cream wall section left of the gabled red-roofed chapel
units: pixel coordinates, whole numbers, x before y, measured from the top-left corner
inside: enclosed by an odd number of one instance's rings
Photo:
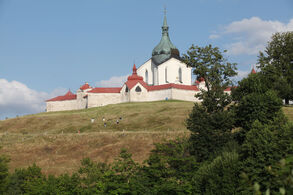
[[[88,108],[118,104],[121,102],[120,93],[89,93]]]

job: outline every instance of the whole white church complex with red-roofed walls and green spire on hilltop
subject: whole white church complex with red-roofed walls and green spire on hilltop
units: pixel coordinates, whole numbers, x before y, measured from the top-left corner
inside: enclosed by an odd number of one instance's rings
[[[46,101],[47,112],[86,109],[123,102],[159,100],[199,101],[195,94],[205,88],[204,80],[192,82],[192,68],[180,61],[179,50],[169,37],[166,14],[162,37],[153,49],[152,57],[136,68],[120,87],[91,87],[82,85],[76,94],[68,91]]]

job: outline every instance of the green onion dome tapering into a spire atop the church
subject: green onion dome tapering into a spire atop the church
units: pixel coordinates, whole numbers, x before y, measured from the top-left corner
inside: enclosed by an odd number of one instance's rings
[[[179,59],[179,50],[171,43],[168,33],[169,27],[167,25],[166,14],[164,16],[164,23],[162,26],[162,38],[160,43],[153,49],[152,61],[156,64],[162,64],[171,57]]]

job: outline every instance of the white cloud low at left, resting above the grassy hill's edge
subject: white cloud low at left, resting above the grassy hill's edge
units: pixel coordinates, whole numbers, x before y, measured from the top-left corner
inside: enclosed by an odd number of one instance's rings
[[[18,81],[0,79],[0,119],[16,115],[44,112],[45,100],[64,94],[65,89],[58,88],[51,93],[30,89]]]

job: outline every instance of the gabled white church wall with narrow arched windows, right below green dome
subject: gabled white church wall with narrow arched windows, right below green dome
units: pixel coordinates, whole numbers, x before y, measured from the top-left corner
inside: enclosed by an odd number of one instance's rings
[[[179,77],[179,68],[181,68],[181,82]],[[163,64],[160,64],[158,66],[158,84],[163,85],[166,83],[191,85],[191,68],[187,67],[186,64],[175,58],[171,58]]]

